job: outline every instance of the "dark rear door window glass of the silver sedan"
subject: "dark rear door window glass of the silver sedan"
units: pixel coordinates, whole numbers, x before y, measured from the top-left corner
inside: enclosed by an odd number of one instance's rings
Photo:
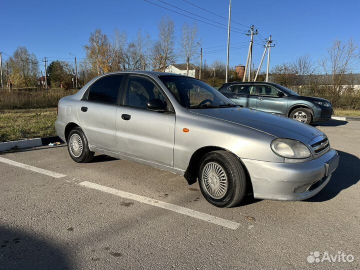
[[[95,81],[88,90],[87,100],[116,104],[123,75],[109,75]]]

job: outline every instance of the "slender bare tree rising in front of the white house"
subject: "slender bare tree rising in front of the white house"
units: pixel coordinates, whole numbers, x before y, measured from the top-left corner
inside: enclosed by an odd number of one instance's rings
[[[183,49],[183,58],[186,62],[186,75],[188,75],[189,63],[196,53],[197,26],[192,27],[186,22],[181,26],[181,48]]]

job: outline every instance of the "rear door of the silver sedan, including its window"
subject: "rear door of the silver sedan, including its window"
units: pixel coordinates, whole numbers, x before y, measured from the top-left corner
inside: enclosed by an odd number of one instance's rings
[[[99,78],[77,103],[80,126],[91,146],[116,151],[115,116],[123,77],[123,74],[110,74]]]

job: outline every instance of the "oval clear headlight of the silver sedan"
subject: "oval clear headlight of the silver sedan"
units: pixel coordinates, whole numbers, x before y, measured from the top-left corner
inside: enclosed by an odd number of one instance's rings
[[[308,158],[311,156],[310,149],[302,142],[294,139],[277,138],[271,142],[272,151],[285,158]]]

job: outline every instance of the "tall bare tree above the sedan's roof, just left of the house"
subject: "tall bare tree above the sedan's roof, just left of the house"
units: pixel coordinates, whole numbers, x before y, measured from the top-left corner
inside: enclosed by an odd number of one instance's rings
[[[153,43],[152,68],[165,71],[166,67],[174,60],[174,23],[170,17],[162,17],[158,24],[158,39]]]

